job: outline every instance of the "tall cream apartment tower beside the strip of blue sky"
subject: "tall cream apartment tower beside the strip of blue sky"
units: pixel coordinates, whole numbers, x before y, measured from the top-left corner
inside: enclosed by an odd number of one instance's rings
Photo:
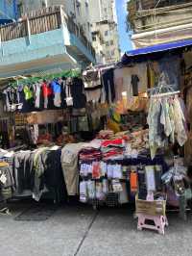
[[[97,62],[118,62],[120,50],[115,0],[89,0],[89,14]]]

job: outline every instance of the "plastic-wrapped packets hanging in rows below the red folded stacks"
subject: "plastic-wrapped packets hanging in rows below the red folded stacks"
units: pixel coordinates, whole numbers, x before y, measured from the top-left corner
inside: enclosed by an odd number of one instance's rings
[[[80,201],[106,202],[108,205],[128,202],[126,168],[104,161],[80,163],[80,175],[83,179],[80,183]]]

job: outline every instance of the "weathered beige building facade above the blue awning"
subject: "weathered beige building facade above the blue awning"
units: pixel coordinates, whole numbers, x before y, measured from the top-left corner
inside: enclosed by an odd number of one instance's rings
[[[191,0],[135,0],[128,12],[134,48],[192,38]]]

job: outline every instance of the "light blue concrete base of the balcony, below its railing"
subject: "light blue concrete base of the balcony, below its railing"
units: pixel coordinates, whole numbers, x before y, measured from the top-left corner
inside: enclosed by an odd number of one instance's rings
[[[0,77],[51,68],[85,67],[94,62],[81,40],[70,34],[64,25],[57,30],[4,41],[0,45]]]

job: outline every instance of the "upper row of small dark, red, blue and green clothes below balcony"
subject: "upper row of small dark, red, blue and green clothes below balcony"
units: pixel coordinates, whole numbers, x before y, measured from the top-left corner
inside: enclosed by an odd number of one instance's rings
[[[7,112],[29,113],[64,109],[67,106],[76,109],[85,107],[86,97],[81,78],[55,77],[50,80],[36,80],[20,81],[3,91]]]

